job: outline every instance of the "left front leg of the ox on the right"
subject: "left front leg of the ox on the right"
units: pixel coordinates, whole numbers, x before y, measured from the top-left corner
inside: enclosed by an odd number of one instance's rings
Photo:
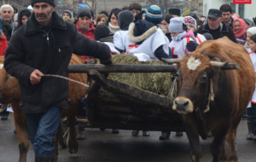
[[[202,147],[199,140],[199,134],[197,130],[193,130],[190,126],[186,126],[186,134],[189,139],[191,147],[191,160],[192,162],[202,161]]]

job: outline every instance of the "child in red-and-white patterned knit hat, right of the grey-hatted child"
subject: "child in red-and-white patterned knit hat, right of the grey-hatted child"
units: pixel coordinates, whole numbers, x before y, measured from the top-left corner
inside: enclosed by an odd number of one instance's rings
[[[203,41],[206,40],[206,37],[203,36],[202,34],[197,33],[197,21],[196,19],[193,19],[192,16],[186,16],[184,17],[184,23],[187,25],[187,32],[189,32],[190,30],[193,31],[193,35],[196,37],[197,39],[197,44],[202,44]]]

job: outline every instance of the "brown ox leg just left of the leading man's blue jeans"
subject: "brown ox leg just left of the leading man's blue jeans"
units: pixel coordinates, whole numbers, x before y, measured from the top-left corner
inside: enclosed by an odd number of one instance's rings
[[[15,130],[17,132],[17,136],[19,139],[19,162],[26,162],[29,147],[27,117],[25,117],[21,111],[14,111],[13,115],[15,122]]]

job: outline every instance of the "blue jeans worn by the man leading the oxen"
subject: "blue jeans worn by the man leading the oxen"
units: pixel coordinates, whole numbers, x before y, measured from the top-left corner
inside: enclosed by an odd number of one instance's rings
[[[53,139],[59,127],[62,109],[51,107],[46,113],[27,113],[28,134],[36,156],[52,156]]]

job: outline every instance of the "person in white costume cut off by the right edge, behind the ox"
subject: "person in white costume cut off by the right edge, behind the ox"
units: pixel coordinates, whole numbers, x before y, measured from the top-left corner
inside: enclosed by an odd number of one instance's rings
[[[250,36],[249,40],[249,48],[252,50],[252,52],[249,53],[249,57],[251,58],[253,64],[254,64],[254,71],[256,73],[256,34]],[[251,107],[247,108],[247,126],[249,133],[247,134],[246,139],[248,140],[254,140],[256,141],[256,135],[255,135],[255,126],[256,126],[256,90],[254,90],[254,95],[251,100]]]

